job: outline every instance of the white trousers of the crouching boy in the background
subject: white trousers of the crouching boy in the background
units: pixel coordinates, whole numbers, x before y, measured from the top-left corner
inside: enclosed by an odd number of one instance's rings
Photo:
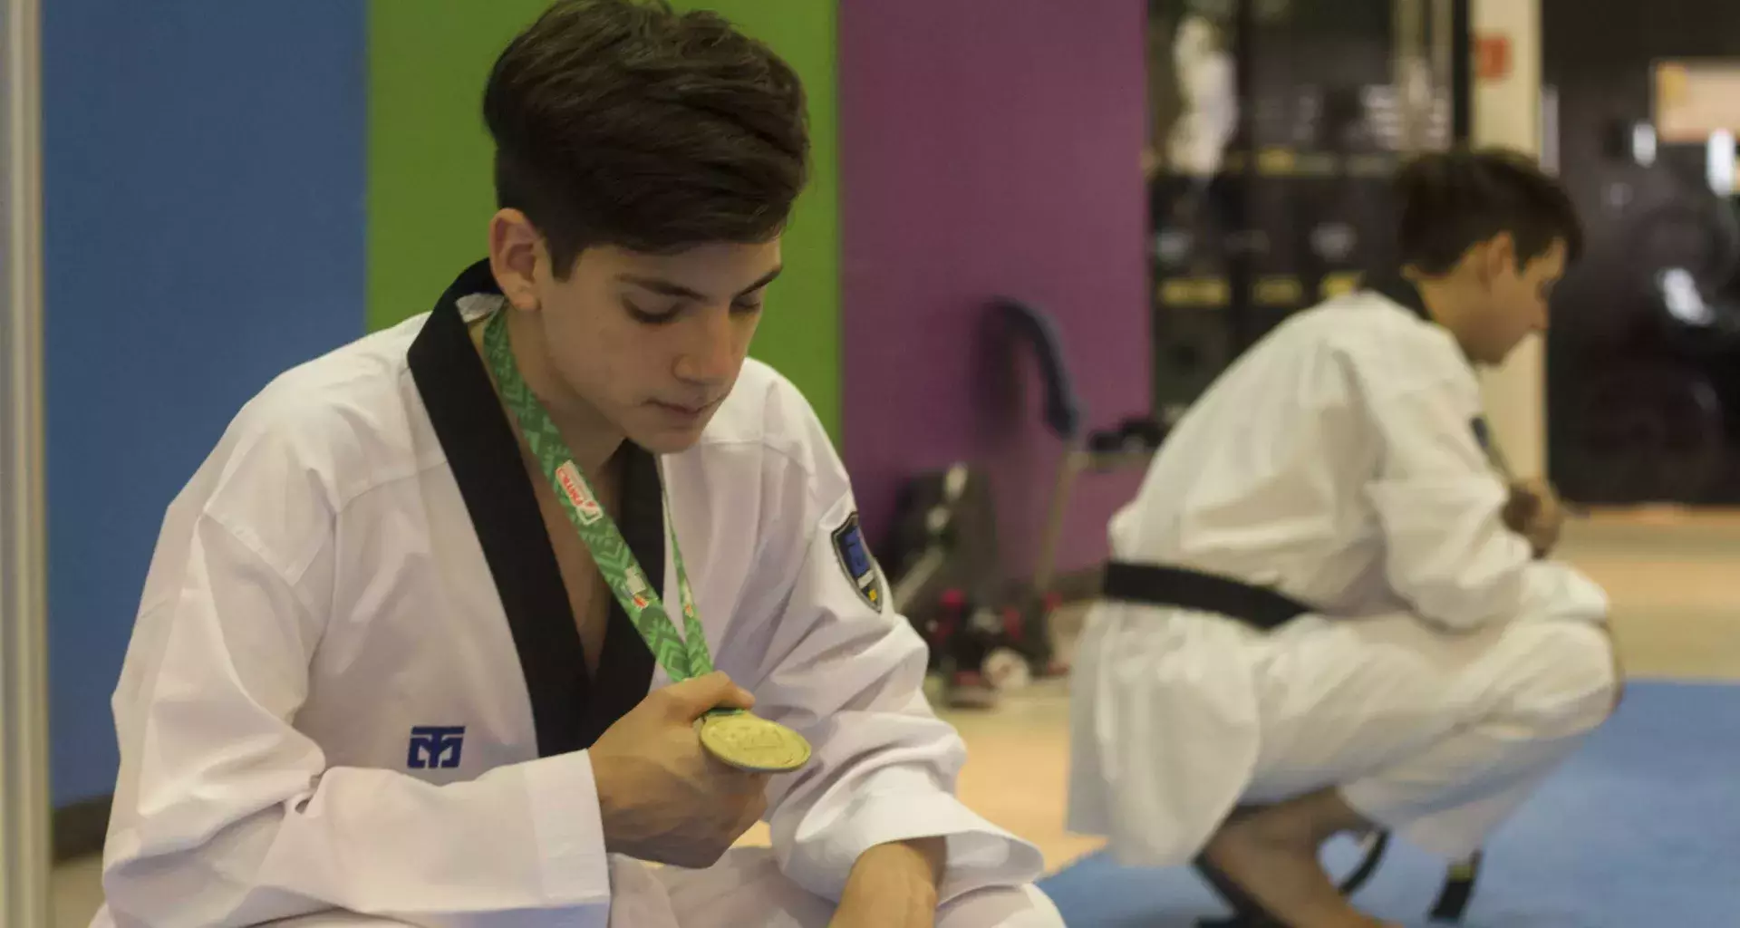
[[[1310,620],[1255,644],[1262,738],[1246,803],[1340,787],[1460,858],[1611,714],[1613,644],[1585,622],[1442,635],[1413,616]]]

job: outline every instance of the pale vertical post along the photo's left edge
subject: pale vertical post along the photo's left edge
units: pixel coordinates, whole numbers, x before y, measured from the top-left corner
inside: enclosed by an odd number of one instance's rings
[[[49,925],[38,0],[0,0],[0,925]]]

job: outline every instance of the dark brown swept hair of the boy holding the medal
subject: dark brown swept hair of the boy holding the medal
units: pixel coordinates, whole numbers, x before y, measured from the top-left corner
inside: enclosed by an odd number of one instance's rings
[[[778,235],[806,181],[804,89],[766,44],[665,0],[559,0],[484,91],[496,202],[581,251]]]

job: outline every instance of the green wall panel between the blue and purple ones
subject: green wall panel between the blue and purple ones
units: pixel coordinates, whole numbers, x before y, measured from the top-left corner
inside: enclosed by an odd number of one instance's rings
[[[545,0],[371,0],[367,326],[428,310],[484,256],[494,212],[482,92],[503,45]],[[679,0],[717,9],[797,68],[809,92],[809,190],[785,239],[752,353],[792,378],[840,430],[835,0]]]

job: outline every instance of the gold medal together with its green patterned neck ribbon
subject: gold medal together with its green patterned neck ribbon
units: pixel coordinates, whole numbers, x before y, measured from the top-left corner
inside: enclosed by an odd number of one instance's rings
[[[713,658],[706,649],[706,632],[694,609],[694,595],[689,592],[689,575],[682,568],[682,548],[677,547],[677,529],[670,521],[670,501],[666,500],[663,507],[665,531],[670,538],[672,561],[677,566],[677,594],[682,601],[684,623],[680,634],[665,611],[658,590],[649,585],[640,562],[628,548],[628,541],[623,540],[616,522],[599,505],[592,484],[574,465],[560,430],[550,421],[550,414],[545,413],[525,380],[520,378],[520,371],[513,364],[513,350],[508,345],[505,312],[498,312],[484,329],[484,355],[496,376],[503,404],[519,420],[525,444],[555,489],[555,498],[567,514],[567,521],[586,543],[593,564],[599,566],[599,573],[604,575],[616,601],[621,602],[628,620],[647,642],[647,649],[658,658],[672,683],[712,674]],[[809,763],[809,742],[802,735],[741,709],[715,709],[694,724],[701,745],[731,766],[757,773],[786,773]]]

